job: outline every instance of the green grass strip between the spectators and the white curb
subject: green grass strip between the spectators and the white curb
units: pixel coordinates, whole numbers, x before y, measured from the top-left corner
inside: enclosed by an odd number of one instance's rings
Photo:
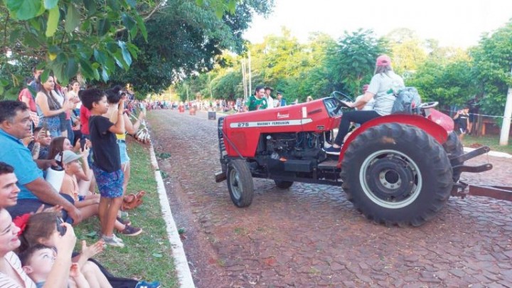
[[[118,277],[159,281],[162,287],[178,287],[166,224],[161,215],[159,196],[156,193],[149,145],[142,146],[133,138],[127,139],[127,142],[128,153],[132,159],[132,178],[128,193],[146,191],[142,206],[127,212],[132,225],[141,227],[144,232],[135,237],[122,237],[125,247],[107,246],[105,252],[95,258]],[[100,225],[97,218],[91,218],[78,225],[75,228],[78,237],[77,250],[80,250],[81,239],[87,240],[88,244],[97,241],[99,231]]]

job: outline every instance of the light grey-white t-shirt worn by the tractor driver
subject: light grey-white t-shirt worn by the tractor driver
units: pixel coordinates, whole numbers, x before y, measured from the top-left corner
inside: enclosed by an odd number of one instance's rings
[[[388,74],[373,75],[367,90],[375,94],[373,96],[375,100],[373,110],[382,116],[391,114],[396,98],[393,93],[398,92],[403,87],[405,87],[403,79],[393,71],[389,71]]]

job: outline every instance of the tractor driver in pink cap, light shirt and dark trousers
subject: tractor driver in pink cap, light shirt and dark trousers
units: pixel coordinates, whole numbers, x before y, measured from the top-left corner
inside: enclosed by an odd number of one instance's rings
[[[354,110],[343,113],[338,128],[338,134],[331,147],[324,149],[327,154],[339,155],[343,139],[348,134],[351,122],[363,124],[379,116],[391,114],[395,95],[400,88],[405,87],[403,79],[396,75],[391,68],[391,59],[388,55],[380,55],[375,61],[375,73],[370,80],[368,90],[356,102],[343,102],[351,108],[362,109],[365,105],[374,100],[373,110]]]

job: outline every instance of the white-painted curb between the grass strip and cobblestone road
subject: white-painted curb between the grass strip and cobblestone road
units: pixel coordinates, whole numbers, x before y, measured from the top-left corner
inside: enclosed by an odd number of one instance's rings
[[[166,222],[167,237],[171,243],[174,265],[176,266],[176,274],[178,276],[180,287],[195,288],[196,286],[193,284],[192,274],[188,267],[185,250],[183,250],[183,242],[181,242],[178,234],[178,228],[176,228],[176,223],[174,222],[174,218],[171,213],[171,206],[169,205],[169,199],[167,198],[164,180],[161,178],[158,162],[156,161],[156,155],[154,154],[153,143],[151,143],[150,148],[151,166],[153,166],[156,179],[156,191],[159,193],[162,215]]]

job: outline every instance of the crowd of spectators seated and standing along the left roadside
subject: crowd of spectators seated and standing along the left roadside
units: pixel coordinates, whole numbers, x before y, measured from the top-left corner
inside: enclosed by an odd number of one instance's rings
[[[130,173],[125,135],[153,103],[122,87],[63,87],[42,73],[33,69],[18,101],[0,101],[0,287],[159,287],[114,277],[92,259],[143,232],[119,209]],[[90,217],[100,219],[100,240],[75,254],[73,226]]]

